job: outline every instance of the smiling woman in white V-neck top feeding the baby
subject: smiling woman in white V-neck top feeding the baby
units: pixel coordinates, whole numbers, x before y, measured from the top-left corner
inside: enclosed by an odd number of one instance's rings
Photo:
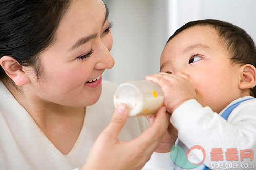
[[[124,126],[123,104],[110,120],[115,86],[103,82],[102,91],[101,75],[114,60],[103,2],[4,0],[0,22],[0,169],[143,167],[169,114],[162,107],[141,135],[142,118]],[[118,140],[120,131],[130,141]]]

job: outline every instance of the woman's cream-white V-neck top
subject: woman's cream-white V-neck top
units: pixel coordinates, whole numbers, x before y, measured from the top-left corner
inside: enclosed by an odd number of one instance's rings
[[[113,94],[116,87],[113,83],[102,81],[99,101],[86,108],[80,135],[72,150],[63,155],[0,81],[0,169],[82,167],[92,144],[110,122],[115,109]],[[119,134],[119,139],[131,140],[146,128],[145,118],[129,118]]]

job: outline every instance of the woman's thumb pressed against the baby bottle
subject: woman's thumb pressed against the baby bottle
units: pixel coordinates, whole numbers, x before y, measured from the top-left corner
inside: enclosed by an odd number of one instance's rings
[[[114,114],[110,120],[109,125],[104,129],[103,133],[106,133],[108,137],[116,138],[118,137],[120,131],[122,130],[123,126],[127,120],[127,106],[123,103],[120,103]]]

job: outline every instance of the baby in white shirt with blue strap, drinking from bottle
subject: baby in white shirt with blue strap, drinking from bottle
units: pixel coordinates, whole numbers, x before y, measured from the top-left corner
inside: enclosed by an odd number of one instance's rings
[[[169,38],[160,73],[146,77],[164,92],[176,144],[185,153],[195,145],[205,150],[195,169],[256,168],[255,65],[255,44],[243,29],[199,20]]]

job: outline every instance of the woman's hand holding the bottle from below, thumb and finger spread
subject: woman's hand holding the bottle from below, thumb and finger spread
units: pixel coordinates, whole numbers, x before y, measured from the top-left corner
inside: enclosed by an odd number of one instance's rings
[[[161,107],[154,123],[131,141],[119,140],[127,119],[127,107],[119,104],[110,124],[94,142],[82,169],[141,169],[150,159],[169,126],[169,113]]]

